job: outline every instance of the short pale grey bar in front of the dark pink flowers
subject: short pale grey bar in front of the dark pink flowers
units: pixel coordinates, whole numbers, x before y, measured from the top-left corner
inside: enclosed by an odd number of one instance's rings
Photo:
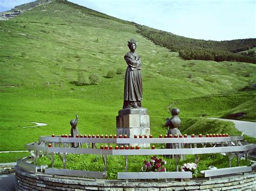
[[[190,179],[192,172],[118,172],[117,179]]]

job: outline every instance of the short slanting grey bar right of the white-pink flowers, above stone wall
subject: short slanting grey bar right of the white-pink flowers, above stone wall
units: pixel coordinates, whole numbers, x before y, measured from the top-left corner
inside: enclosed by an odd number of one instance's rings
[[[251,172],[251,171],[252,171],[251,166],[239,166],[239,167],[231,167],[231,168],[206,170],[206,171],[201,171],[201,173],[205,174],[205,177],[211,177],[211,176],[244,173],[244,172]]]

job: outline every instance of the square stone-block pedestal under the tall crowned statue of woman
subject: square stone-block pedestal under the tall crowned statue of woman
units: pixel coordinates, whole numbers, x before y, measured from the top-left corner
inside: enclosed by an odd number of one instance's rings
[[[126,108],[119,110],[117,116],[117,135],[127,135],[133,138],[134,135],[150,136],[150,117],[147,115],[146,108],[131,109]],[[150,147],[150,144],[131,144],[130,146],[139,145],[140,147]]]

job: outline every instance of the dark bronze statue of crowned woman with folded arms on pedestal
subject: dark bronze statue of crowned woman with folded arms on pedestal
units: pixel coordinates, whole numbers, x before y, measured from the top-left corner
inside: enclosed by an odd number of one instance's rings
[[[130,52],[127,52],[124,59],[128,65],[124,82],[124,105],[125,108],[142,108],[142,62],[135,49],[136,40],[127,41]]]

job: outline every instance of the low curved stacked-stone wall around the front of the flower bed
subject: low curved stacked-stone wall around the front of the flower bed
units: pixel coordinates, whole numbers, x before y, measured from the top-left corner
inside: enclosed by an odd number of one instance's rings
[[[44,173],[35,175],[15,168],[16,190],[231,190],[231,189],[256,189],[256,172],[245,173],[245,175],[233,175],[222,178],[193,179],[190,181],[120,181],[120,180],[92,180],[83,178],[72,178],[67,176],[55,176]]]

